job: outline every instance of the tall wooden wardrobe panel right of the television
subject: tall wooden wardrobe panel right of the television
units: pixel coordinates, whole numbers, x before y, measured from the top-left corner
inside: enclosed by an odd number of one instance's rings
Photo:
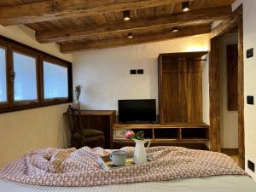
[[[207,52],[159,55],[160,124],[202,123],[202,59]]]

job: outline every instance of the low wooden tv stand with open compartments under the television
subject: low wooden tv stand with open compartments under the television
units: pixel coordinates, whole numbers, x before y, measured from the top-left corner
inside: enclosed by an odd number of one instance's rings
[[[151,146],[172,145],[186,148],[208,149],[209,125],[205,123],[172,124],[114,124],[113,148],[134,146],[135,143],[125,139],[125,131],[144,131],[151,140]]]

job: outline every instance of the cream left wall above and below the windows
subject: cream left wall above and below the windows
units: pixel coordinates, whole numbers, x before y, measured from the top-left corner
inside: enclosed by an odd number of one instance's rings
[[[0,26],[0,35],[43,50],[67,61],[56,44],[38,44],[34,32],[26,26]],[[67,126],[63,115],[67,104],[35,108],[13,113],[0,113],[0,167],[36,148],[67,148]]]

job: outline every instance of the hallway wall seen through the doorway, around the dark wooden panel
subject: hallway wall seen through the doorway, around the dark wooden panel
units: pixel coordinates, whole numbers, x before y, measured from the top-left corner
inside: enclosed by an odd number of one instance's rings
[[[228,110],[227,45],[237,44],[237,33],[220,38],[220,137],[221,148],[238,148],[238,112]]]

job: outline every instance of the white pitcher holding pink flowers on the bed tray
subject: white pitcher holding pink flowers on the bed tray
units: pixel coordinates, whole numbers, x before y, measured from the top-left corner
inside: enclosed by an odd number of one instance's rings
[[[147,154],[146,154],[146,149],[144,147],[144,144],[148,143],[148,146],[147,146],[147,149],[148,149],[151,143],[150,140],[149,139],[144,139],[144,140],[133,139],[133,141],[136,143],[134,148],[134,154],[133,154],[133,162],[135,164],[146,163]]]

